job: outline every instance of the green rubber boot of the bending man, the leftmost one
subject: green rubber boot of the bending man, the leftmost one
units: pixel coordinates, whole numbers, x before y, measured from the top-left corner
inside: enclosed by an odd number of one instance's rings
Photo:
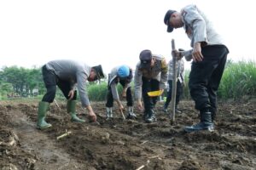
[[[49,109],[49,103],[45,101],[40,101],[38,105],[38,123],[37,127],[40,129],[51,127],[51,124],[45,122],[45,116]]]

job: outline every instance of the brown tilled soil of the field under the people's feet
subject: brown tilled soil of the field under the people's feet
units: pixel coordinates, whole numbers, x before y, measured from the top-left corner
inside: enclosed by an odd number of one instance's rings
[[[158,121],[122,120],[114,108],[106,121],[104,103],[92,103],[98,122],[70,122],[64,102],[50,105],[47,122],[36,128],[38,102],[0,102],[0,168],[7,169],[255,169],[256,102],[220,104],[215,131],[183,133],[198,121],[191,101],[179,105],[183,112],[171,125],[157,105]],[[124,103],[125,105],[125,103]],[[57,139],[63,133],[68,136]]]

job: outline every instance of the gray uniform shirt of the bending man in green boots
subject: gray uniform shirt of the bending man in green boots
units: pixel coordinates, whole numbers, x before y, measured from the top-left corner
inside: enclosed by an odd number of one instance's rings
[[[77,86],[82,105],[84,107],[90,105],[86,91],[86,80],[90,76],[90,66],[73,60],[61,59],[49,61],[46,68],[54,71],[61,80],[70,82],[70,88],[74,89]]]

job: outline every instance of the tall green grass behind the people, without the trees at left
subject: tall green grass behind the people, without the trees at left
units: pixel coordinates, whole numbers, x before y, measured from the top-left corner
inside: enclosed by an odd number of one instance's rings
[[[189,71],[185,71],[185,87],[183,88],[183,99],[191,99],[189,94]],[[118,85],[119,94],[122,87]],[[131,91],[134,94],[134,84],[131,82]],[[100,84],[90,84],[87,87],[89,99],[91,101],[105,101],[108,92],[108,83],[101,82]],[[44,92],[42,92],[44,93]],[[17,99],[42,99],[44,94],[31,98],[17,98]],[[256,64],[253,61],[239,61],[233,63],[228,61],[224,70],[224,75],[218,88],[219,99],[241,99],[244,96],[256,96]],[[0,100],[8,100],[6,94],[0,95]],[[57,88],[55,99],[65,100],[61,90]],[[79,99],[79,96],[78,96]],[[14,100],[14,99],[12,99]]]

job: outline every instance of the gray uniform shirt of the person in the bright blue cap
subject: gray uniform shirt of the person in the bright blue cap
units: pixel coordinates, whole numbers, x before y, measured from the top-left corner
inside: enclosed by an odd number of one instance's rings
[[[120,66],[114,67],[111,72],[108,74],[108,85],[111,88],[111,92],[113,94],[113,99],[119,100],[119,94],[117,90],[117,82],[115,82],[116,78],[118,77],[118,70]],[[132,73],[131,73],[132,74]],[[127,77],[128,78],[128,77]],[[125,88],[131,87],[131,80],[126,81]]]

